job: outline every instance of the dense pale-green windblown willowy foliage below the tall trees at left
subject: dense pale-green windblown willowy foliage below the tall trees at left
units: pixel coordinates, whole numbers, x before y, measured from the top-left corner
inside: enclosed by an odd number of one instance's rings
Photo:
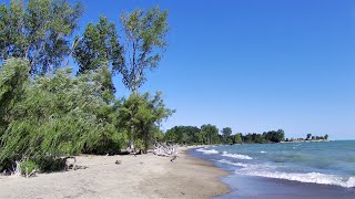
[[[28,71],[29,63],[18,59],[0,70],[0,170],[27,158],[41,165],[65,155],[119,151],[124,137],[115,124],[118,103],[105,102],[100,71],[72,77],[64,69],[32,80]]]

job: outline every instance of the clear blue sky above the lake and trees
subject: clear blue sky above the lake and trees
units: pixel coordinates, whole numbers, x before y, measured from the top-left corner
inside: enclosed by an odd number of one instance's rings
[[[160,6],[169,48],[142,92],[162,91],[176,113],[163,125],[286,137],[355,138],[355,1],[88,0],[81,21]],[[128,94],[114,80],[118,96]]]

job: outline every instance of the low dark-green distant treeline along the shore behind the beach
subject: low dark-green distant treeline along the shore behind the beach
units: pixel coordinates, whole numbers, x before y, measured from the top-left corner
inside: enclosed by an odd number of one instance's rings
[[[284,140],[285,133],[283,129],[264,132],[262,134],[242,133],[233,134],[231,127],[220,130],[216,126],[207,124],[201,128],[196,126],[175,126],[166,130],[165,142],[173,142],[185,145],[211,145],[211,144],[263,144],[280,143]]]

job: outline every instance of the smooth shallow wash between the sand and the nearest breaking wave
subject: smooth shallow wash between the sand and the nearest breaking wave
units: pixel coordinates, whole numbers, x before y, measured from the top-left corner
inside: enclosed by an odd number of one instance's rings
[[[209,148],[213,149],[213,148]],[[254,198],[254,199],[304,199],[304,198],[344,198],[353,199],[355,187],[346,188],[336,185],[302,182],[282,178],[262,176],[248,176],[234,174],[235,166],[220,164],[217,155],[191,151],[191,156],[204,159],[215,167],[230,171],[229,176],[221,178],[222,182],[230,186],[231,191],[217,196],[219,199],[229,198]]]

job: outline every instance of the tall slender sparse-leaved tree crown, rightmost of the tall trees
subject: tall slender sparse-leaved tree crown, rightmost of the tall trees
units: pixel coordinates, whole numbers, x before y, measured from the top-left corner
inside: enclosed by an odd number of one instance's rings
[[[126,59],[119,71],[124,85],[133,93],[146,81],[145,71],[158,67],[162,51],[166,46],[166,18],[168,12],[161,12],[159,8],[134,10],[130,14],[121,15],[126,39]]]

